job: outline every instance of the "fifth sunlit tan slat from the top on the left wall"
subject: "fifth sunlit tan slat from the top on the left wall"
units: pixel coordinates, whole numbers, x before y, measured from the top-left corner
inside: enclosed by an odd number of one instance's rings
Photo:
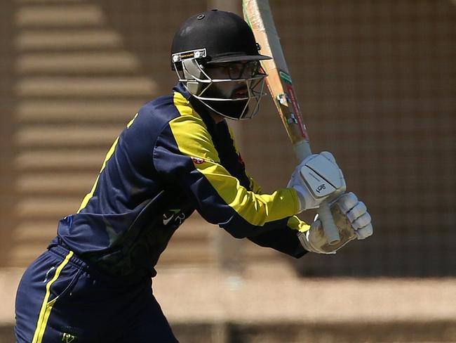
[[[48,99],[24,99],[18,103],[19,122],[65,123],[96,122],[103,124],[128,123],[138,112],[141,101],[93,100],[51,101]]]

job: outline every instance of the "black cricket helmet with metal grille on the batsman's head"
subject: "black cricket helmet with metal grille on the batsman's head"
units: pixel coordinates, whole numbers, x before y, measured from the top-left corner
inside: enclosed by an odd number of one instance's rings
[[[261,55],[252,30],[239,15],[225,11],[207,11],[194,15],[177,30],[171,47],[171,65],[189,93],[210,110],[231,119],[253,117],[264,95]],[[212,79],[210,67],[236,65],[241,73],[225,79]],[[244,73],[244,70],[250,72]],[[227,96],[217,84],[234,83],[245,90],[243,96]]]

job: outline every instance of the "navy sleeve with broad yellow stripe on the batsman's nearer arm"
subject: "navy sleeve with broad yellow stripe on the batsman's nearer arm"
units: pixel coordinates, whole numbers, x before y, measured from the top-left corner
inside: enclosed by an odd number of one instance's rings
[[[257,194],[241,186],[222,164],[203,120],[181,115],[163,129],[154,147],[154,167],[165,181],[178,183],[204,219],[236,238],[286,225],[298,211],[295,190]],[[276,225],[274,225],[276,227]]]

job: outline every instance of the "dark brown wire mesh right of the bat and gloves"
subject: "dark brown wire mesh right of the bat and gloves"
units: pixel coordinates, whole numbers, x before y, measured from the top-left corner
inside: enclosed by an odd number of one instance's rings
[[[335,153],[375,226],[372,239],[337,257],[303,259],[300,270],[455,275],[456,4],[271,1],[271,7],[314,150]],[[246,137],[254,130],[252,123]],[[255,160],[262,142],[274,145],[270,130],[255,133],[246,160]],[[293,165],[271,164],[274,149],[264,154],[252,163],[260,165],[257,174]]]

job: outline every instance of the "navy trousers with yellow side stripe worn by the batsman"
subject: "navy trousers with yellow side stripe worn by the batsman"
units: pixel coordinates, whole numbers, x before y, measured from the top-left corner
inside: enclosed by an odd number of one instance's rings
[[[152,294],[152,280],[121,283],[60,245],[25,271],[15,314],[20,343],[177,342]]]

